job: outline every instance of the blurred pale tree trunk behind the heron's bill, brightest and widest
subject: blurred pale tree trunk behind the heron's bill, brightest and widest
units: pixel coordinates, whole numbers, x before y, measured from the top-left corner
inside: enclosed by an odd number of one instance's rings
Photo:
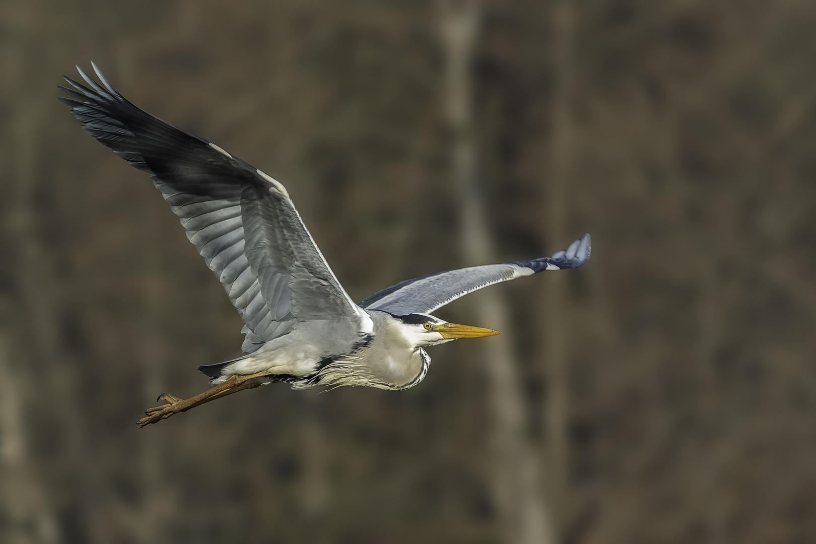
[[[466,264],[494,262],[481,192],[477,187],[471,65],[480,22],[476,0],[441,1],[441,34],[447,57],[446,115],[453,141],[451,162],[459,200],[459,232]],[[477,321],[508,331],[507,307],[497,290],[472,295]],[[539,485],[539,464],[525,432],[525,406],[512,334],[490,338],[486,366],[493,414],[494,498],[504,542],[552,541],[552,525]]]

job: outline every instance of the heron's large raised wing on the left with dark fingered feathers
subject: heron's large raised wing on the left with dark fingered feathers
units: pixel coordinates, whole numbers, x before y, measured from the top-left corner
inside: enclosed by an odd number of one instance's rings
[[[245,326],[244,352],[290,332],[298,321],[363,318],[331,272],[286,188],[206,139],[125,100],[93,66],[60,97],[82,128],[147,172]],[[104,87],[103,87],[104,86]]]

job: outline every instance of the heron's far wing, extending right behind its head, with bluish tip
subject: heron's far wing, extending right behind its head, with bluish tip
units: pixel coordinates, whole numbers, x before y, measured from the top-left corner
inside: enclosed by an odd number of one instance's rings
[[[410,313],[430,313],[482,287],[530,276],[544,270],[577,268],[589,259],[592,241],[588,234],[574,241],[566,250],[529,261],[487,264],[481,267],[459,268],[428,276],[401,281],[371,294],[360,303],[367,310],[383,310],[397,316]]]

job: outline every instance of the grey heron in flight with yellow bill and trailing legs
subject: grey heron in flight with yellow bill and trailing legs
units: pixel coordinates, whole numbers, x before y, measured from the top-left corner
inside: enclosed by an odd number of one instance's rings
[[[551,257],[436,272],[355,303],[323,257],[286,188],[224,148],[136,107],[91,63],[86,85],[59,86],[82,129],[150,175],[189,241],[241,316],[243,355],[198,369],[213,387],[188,399],[164,393],[139,427],[211,400],[266,385],[402,391],[428,373],[427,347],[499,331],[432,312],[465,294],[537,272],[577,268],[589,234]]]

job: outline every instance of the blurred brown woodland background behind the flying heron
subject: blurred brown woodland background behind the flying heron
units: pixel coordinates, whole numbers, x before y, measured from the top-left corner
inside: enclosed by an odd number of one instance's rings
[[[592,259],[437,312],[503,344],[410,391],[139,430],[242,324],[56,100],[89,60],[282,180],[353,299]],[[4,0],[0,67],[0,542],[816,542],[814,2]]]

